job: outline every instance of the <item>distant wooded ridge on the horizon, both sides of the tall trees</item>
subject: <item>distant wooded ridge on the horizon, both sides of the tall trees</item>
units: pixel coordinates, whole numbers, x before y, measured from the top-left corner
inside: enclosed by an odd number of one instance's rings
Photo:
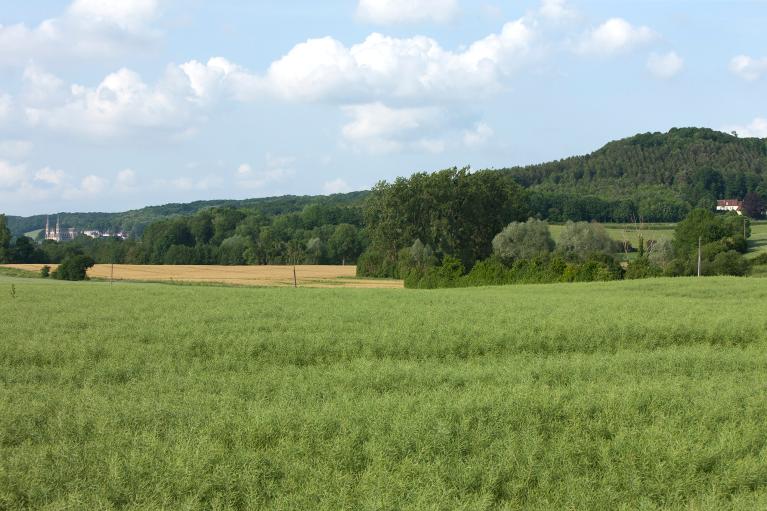
[[[676,221],[693,207],[756,192],[767,199],[767,140],[738,138],[703,128],[675,128],[610,142],[585,155],[500,169],[530,192],[530,215],[554,222]],[[138,237],[157,220],[216,207],[247,208],[266,216],[299,212],[310,204],[360,205],[369,192],[197,201],[124,213],[61,213],[62,225],[120,230]],[[15,236],[41,229],[45,216],[8,217]]]

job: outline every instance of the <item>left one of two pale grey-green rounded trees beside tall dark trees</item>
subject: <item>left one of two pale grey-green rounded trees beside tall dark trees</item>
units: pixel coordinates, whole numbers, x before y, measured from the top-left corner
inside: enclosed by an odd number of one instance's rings
[[[493,252],[506,263],[550,254],[555,246],[549,225],[534,218],[510,223],[493,239]]]

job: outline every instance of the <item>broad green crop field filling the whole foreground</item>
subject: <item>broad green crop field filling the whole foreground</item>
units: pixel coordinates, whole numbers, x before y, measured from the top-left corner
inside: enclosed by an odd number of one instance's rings
[[[0,509],[765,509],[765,300],[0,277]]]

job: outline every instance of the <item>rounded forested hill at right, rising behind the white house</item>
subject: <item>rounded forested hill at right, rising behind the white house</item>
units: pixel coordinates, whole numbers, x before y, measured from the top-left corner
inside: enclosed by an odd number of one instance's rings
[[[767,141],[676,128],[501,172],[530,190],[536,216],[551,221],[678,221],[717,199],[767,198]]]

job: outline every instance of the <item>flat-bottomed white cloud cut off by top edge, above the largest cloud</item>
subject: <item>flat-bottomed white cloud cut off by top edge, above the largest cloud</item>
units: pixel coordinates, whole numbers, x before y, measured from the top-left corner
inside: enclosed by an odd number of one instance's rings
[[[458,11],[458,0],[360,0],[357,17],[381,25],[424,21],[445,23]]]

